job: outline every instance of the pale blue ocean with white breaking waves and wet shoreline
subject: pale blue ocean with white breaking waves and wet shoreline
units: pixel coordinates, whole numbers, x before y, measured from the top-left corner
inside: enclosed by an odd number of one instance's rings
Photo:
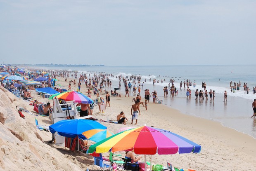
[[[170,106],[180,110],[186,115],[193,115],[211,119],[220,122],[223,126],[230,127],[237,131],[248,134],[256,138],[256,119],[252,119],[253,115],[252,102],[256,98],[253,94],[253,87],[256,86],[256,65],[204,65],[204,66],[88,66],[88,67],[56,67],[45,69],[70,70],[83,73],[109,73],[114,77],[110,77],[112,89],[118,86],[119,78],[117,76],[140,75],[141,83],[144,83],[143,89],[149,89],[150,92],[157,91],[159,100],[163,100],[162,105]],[[79,77],[79,76],[78,76]],[[149,82],[151,79],[151,82]],[[159,83],[153,85],[152,80],[159,80]],[[175,97],[164,97],[163,88],[168,86],[169,80],[174,79],[174,85],[178,89],[178,95]],[[196,87],[191,86],[191,98],[186,98],[186,90],[184,87],[180,89],[180,82],[191,80],[195,82]],[[163,80],[163,83],[161,83]],[[240,87],[239,91],[230,92],[230,82],[241,82],[242,86],[247,83],[250,91],[249,94]],[[206,82],[206,89],[216,91],[215,100],[210,98],[206,101],[195,100],[194,91],[196,89],[203,90],[201,83]],[[233,85],[233,84],[232,84]],[[110,88],[107,88],[110,89]],[[227,103],[224,103],[224,91],[228,92]],[[122,84],[119,89],[121,94],[125,94]],[[134,95],[135,96],[135,95]],[[144,91],[141,91],[144,97]],[[152,103],[152,99],[151,99]],[[159,104],[161,105],[161,104]],[[175,115],[175,113],[170,113]]]

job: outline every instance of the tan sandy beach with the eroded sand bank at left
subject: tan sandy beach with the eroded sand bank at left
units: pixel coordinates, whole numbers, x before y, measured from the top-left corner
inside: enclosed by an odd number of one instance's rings
[[[68,87],[69,80],[65,82],[64,78],[57,77],[57,84],[62,88]],[[112,87],[113,89],[114,87]],[[72,90],[76,90],[73,87]],[[110,90],[110,89],[107,89]],[[87,91],[85,85],[81,87],[81,92]],[[34,91],[32,94],[40,102],[46,102],[46,98],[40,98]],[[100,94],[105,98],[104,92]],[[125,112],[128,118],[128,124],[131,125],[131,105],[132,97],[110,97],[111,107],[107,107],[104,115],[99,113],[97,105],[93,110],[95,119],[104,121],[116,121],[116,115],[121,111]],[[92,95],[92,99],[95,99]],[[92,170],[93,158],[82,152],[72,152],[67,148],[48,143],[51,140],[51,133],[39,131],[35,128],[34,115],[26,112],[23,114],[25,119],[19,117],[16,105],[22,106],[27,110],[33,111],[33,106],[29,102],[15,97],[9,91],[0,88],[0,167],[4,171],[20,170]],[[163,104],[153,104],[152,99],[148,103],[148,110],[140,106],[141,115],[136,126],[154,126],[160,129],[172,131],[195,143],[201,145],[201,152],[198,154],[175,154],[175,155],[153,155],[152,162],[155,164],[166,165],[166,161],[171,162],[173,166],[183,169],[194,169],[197,171],[254,171],[256,168],[256,139],[246,134],[222,126],[218,122],[185,115],[178,110],[165,106]],[[39,124],[50,125],[50,119],[38,116]],[[125,127],[122,124],[100,122],[108,127],[109,131],[116,133],[120,128]],[[92,142],[90,142],[92,143]],[[124,152],[120,152],[124,156]],[[107,153],[103,154],[108,156]],[[148,156],[149,159],[149,156]],[[93,170],[99,170],[94,167]]]

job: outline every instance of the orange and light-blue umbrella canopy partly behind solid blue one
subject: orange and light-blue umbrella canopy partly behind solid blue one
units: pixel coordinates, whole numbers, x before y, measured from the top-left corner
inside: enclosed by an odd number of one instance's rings
[[[83,136],[85,136],[86,139],[94,141],[96,143],[114,135],[107,129],[91,129],[83,132],[82,134]]]

